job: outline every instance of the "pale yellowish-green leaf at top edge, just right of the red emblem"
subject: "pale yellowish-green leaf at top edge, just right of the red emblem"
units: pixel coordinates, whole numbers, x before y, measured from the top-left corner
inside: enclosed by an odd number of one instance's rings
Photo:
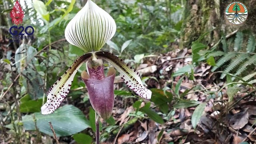
[[[44,18],[44,20],[46,20],[47,22],[50,21],[50,14],[47,11],[44,2],[40,0],[33,0],[33,6],[36,12],[38,12],[42,16],[42,18]]]

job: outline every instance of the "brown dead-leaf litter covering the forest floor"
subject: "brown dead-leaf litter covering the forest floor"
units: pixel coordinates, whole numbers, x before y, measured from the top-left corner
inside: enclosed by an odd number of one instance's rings
[[[158,124],[150,118],[136,118],[131,116],[135,111],[132,106],[138,98],[125,98],[116,96],[112,116],[115,124],[121,129],[102,142],[102,144],[240,144],[241,142],[252,142],[256,140],[256,90],[240,85],[239,92],[230,92],[223,89],[226,82],[220,79],[219,73],[210,71],[211,66],[200,63],[194,68],[194,79],[189,76],[176,76],[172,74],[191,64],[191,50],[175,50],[157,57],[148,57],[137,68],[142,76],[150,77],[146,81],[148,88],[164,89],[168,86],[167,92],[175,93],[175,88],[179,85],[178,96],[173,96],[172,102],[168,103],[169,113],[163,114],[159,108],[152,105],[152,110],[158,112],[164,118],[164,124]],[[0,72],[0,77],[1,77]],[[117,77],[118,79],[118,77]],[[180,81],[180,79],[182,79]],[[122,82],[117,82],[115,88],[118,90]],[[254,85],[255,86],[255,85]],[[1,85],[0,85],[1,88]],[[219,91],[220,90],[220,91]],[[185,95],[182,95],[186,92]],[[228,95],[234,95],[230,99]],[[154,96],[154,95],[153,95]],[[81,97],[82,99],[82,97]],[[83,103],[80,98],[71,100],[69,104],[78,107],[88,118],[90,102]],[[8,102],[10,97],[4,98]],[[196,128],[193,128],[192,115],[197,105],[189,105],[180,102],[182,100],[194,100],[199,103],[206,103],[202,116]],[[140,107],[146,104],[143,100]],[[179,103],[179,106],[173,107]],[[1,110],[1,109],[0,109]],[[1,113],[3,110],[1,111]],[[2,114],[1,114],[2,116]],[[1,118],[2,119],[2,118]],[[127,126],[124,124],[131,121]],[[102,126],[106,122],[101,120]],[[93,135],[92,130],[86,129]],[[101,133],[103,133],[101,131]],[[37,142],[37,132],[26,131],[29,141]],[[0,144],[10,144],[14,142],[13,132],[7,128],[0,134]],[[55,141],[53,137],[42,134],[42,143]],[[62,144],[73,144],[71,136],[61,137]]]

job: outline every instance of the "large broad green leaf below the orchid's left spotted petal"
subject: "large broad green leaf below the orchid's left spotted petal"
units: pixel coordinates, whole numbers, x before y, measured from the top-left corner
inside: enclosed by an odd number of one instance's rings
[[[82,111],[72,105],[62,106],[53,114],[42,115],[40,112],[36,112],[34,116],[39,131],[50,136],[53,134],[48,122],[52,122],[58,137],[70,136],[90,127]],[[25,130],[36,130],[33,114],[22,116],[22,123]]]

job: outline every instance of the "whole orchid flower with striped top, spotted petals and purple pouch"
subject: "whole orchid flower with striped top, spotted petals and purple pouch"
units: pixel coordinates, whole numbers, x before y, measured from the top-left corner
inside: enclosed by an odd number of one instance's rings
[[[151,98],[152,92],[143,86],[136,70],[114,54],[100,51],[115,32],[114,19],[94,2],[88,0],[84,8],[68,23],[65,30],[66,40],[84,50],[86,54],[76,59],[63,76],[50,87],[47,102],[41,108],[42,114],[50,114],[60,106],[70,91],[76,72],[84,63],[87,64],[88,73],[82,72],[82,80],[86,84],[92,107],[103,119],[108,119],[112,114],[116,70],[125,84],[138,96],[145,99]],[[107,77],[104,75],[102,59],[116,69],[109,68]]]

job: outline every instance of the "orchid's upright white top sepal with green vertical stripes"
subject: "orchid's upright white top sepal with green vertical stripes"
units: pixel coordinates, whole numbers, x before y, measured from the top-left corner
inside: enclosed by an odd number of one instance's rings
[[[116,32],[114,19],[94,2],[88,0],[65,30],[66,40],[85,52],[100,50]]]

